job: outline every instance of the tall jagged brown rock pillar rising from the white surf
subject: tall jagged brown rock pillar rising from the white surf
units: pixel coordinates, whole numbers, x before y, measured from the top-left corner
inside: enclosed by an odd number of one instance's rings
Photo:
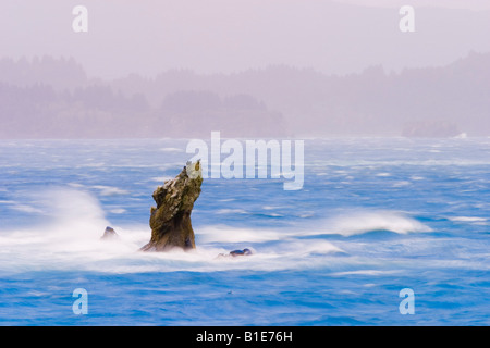
[[[166,251],[174,247],[196,248],[191,212],[200,195],[203,175],[200,162],[187,162],[182,172],[154,191],[157,208],[151,207],[150,241],[143,251]]]

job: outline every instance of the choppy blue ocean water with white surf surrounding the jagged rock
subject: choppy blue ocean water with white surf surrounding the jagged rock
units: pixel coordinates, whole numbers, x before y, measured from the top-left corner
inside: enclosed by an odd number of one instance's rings
[[[197,249],[138,251],[186,144],[1,140],[0,325],[490,324],[489,138],[306,139],[303,189],[205,179]]]

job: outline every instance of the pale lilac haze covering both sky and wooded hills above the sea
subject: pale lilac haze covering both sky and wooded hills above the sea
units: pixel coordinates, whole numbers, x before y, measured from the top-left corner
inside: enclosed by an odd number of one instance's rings
[[[483,1],[0,5],[1,138],[490,135]],[[26,10],[28,9],[28,10]],[[22,20],[22,21],[20,21]]]

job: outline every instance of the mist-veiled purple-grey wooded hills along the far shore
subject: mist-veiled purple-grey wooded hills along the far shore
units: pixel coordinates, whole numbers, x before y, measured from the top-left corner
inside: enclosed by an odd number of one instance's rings
[[[0,60],[0,137],[490,135],[490,53],[356,74],[269,66],[87,79],[74,60]]]

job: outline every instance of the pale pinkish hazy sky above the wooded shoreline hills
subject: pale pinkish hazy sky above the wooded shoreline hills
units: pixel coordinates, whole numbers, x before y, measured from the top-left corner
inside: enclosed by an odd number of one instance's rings
[[[88,10],[88,33],[72,29],[78,4]],[[415,8],[415,33],[399,29],[402,4]],[[89,76],[103,78],[175,67],[232,73],[287,64],[345,74],[373,64],[444,65],[470,50],[490,51],[488,33],[488,0],[0,3],[0,57],[73,57]]]

